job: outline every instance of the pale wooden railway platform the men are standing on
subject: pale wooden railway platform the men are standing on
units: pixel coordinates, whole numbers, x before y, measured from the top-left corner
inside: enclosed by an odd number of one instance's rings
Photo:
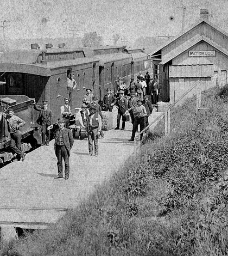
[[[161,114],[161,113],[160,113]],[[150,121],[159,112],[153,112]],[[116,127],[117,109],[113,111]],[[87,139],[74,140],[70,157],[69,179],[53,179],[57,175],[54,141],[27,154],[24,162],[12,162],[0,169],[0,227],[2,237],[9,240],[15,227],[47,228],[76,208],[117,172],[125,160],[134,153],[136,144],[129,142],[132,125],[125,130],[104,131],[99,139],[99,157],[88,157]],[[9,234],[9,235],[8,235]]]

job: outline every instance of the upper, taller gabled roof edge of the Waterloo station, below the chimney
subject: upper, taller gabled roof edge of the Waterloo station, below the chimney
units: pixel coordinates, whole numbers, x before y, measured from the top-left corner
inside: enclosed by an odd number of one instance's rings
[[[209,26],[211,26],[212,28],[216,29],[218,32],[220,32],[221,34],[224,34],[227,39],[228,39],[228,33],[226,33],[225,31],[223,31],[223,29],[220,29],[218,26],[214,25],[212,22],[208,21],[207,19],[200,19],[198,20],[198,22],[194,23],[191,27],[187,28],[186,31],[181,32],[179,35],[175,36],[172,40],[166,42],[165,44],[163,44],[162,46],[158,47],[155,51],[149,53],[148,55],[154,55],[155,53],[157,53],[158,51],[160,51],[162,48],[166,47],[167,45],[171,44],[172,42],[174,42],[176,39],[180,38],[182,35],[187,34],[189,31],[191,31],[193,28],[197,27],[198,25],[200,25],[201,23],[206,23]]]

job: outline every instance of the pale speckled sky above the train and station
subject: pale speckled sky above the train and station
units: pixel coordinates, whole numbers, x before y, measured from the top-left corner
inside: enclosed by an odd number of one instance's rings
[[[188,27],[199,19],[200,9],[208,9],[210,21],[228,32],[228,0],[0,0],[0,6],[0,21],[9,21],[8,40],[68,37],[73,30],[78,36],[96,31],[106,44],[116,33],[129,42],[175,36],[182,22]]]

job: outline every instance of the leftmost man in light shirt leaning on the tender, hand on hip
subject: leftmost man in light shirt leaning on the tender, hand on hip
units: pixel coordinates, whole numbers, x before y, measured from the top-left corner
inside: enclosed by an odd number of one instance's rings
[[[3,117],[7,120],[8,124],[8,131],[10,133],[10,148],[17,154],[17,157],[20,157],[21,161],[24,161],[26,153],[21,151],[22,135],[20,128],[24,126],[26,122],[20,117],[17,117],[12,108],[8,108],[8,114],[4,114]],[[15,159],[14,161],[18,161],[18,159]]]

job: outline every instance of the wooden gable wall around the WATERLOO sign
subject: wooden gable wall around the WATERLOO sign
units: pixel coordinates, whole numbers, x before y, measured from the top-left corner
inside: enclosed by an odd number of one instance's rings
[[[228,42],[227,42],[228,45]],[[188,51],[216,51],[216,56],[211,57],[188,57]],[[228,68],[228,57],[219,52],[216,48],[202,41],[194,45],[188,51],[183,52],[173,59],[173,65],[202,65],[214,64],[214,71],[225,70]]]

